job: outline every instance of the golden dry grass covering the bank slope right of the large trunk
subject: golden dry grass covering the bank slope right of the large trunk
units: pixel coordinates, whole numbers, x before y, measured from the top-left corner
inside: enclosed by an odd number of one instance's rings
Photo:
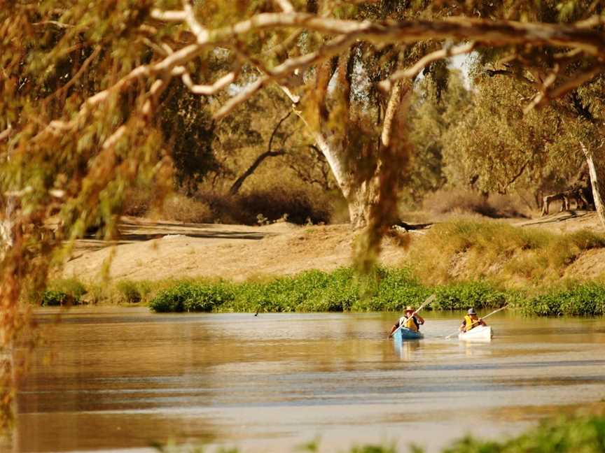
[[[494,221],[436,224],[410,246],[405,265],[425,282],[492,280],[504,287],[557,282],[586,250],[605,247],[593,231],[555,234]]]

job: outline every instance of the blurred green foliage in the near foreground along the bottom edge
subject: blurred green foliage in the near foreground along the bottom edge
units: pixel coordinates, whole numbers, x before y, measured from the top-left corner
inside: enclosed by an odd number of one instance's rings
[[[163,453],[202,453],[202,447],[157,445],[157,450]],[[325,449],[324,449],[325,450]],[[219,450],[237,453],[236,448]],[[303,452],[317,452],[317,442],[312,442],[298,449]],[[322,450],[323,451],[323,450]],[[348,453],[396,453],[396,448],[385,445],[362,445],[350,447],[349,450],[339,448],[337,452]],[[403,452],[404,450],[401,450]],[[405,449],[410,453],[423,453],[424,449],[412,445]],[[587,415],[579,417],[560,417],[543,422],[531,428],[520,436],[503,441],[480,440],[466,436],[454,440],[451,445],[444,447],[442,453],[602,453],[605,452],[605,417],[602,415]]]

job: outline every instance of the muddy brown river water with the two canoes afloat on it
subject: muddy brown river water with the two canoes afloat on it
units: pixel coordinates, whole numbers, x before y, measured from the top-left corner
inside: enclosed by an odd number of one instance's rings
[[[605,319],[490,318],[494,340],[387,340],[393,314],[37,314],[48,345],[18,394],[14,452],[150,450],[153,443],[289,452],[360,443],[438,451],[603,405]]]

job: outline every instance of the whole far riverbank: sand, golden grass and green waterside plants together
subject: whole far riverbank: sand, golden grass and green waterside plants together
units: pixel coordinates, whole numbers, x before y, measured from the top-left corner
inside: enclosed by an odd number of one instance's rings
[[[257,236],[237,229],[204,236],[193,226],[181,225],[176,236],[144,240],[151,255],[137,254],[141,244],[134,239],[114,249],[82,252],[74,262],[88,256],[88,268],[74,267],[70,261],[64,275],[71,269],[74,277],[51,282],[47,292],[33,299],[43,305],[148,303],[160,312],[327,312],[401,311],[403,305],[418,305],[436,294],[431,305],[436,310],[508,304],[529,315],[604,315],[605,235],[572,228],[587,227],[587,215],[575,220],[561,216],[545,218],[539,225],[555,219],[571,222],[566,231],[536,227],[536,220],[515,225],[457,218],[419,233],[393,232],[384,240],[380,267],[364,278],[350,266],[353,235],[347,226],[301,228],[282,223],[259,228]],[[147,236],[130,231],[130,238],[137,234],[148,238],[157,236],[158,230],[147,231]],[[401,236],[411,236],[406,247],[398,245]],[[195,249],[196,240],[204,243],[202,249]],[[188,252],[183,251],[183,241],[192,242],[186,245]],[[261,251],[263,257],[254,255]],[[120,260],[120,253],[129,259]],[[99,264],[97,254],[108,256]],[[112,256],[109,278],[90,278],[89,268],[107,270]],[[181,261],[193,259],[195,271],[182,271]],[[176,271],[144,279],[140,277],[146,274],[132,270],[140,267],[132,261],[141,261],[151,269],[150,275],[158,275],[153,270],[158,266]],[[226,262],[230,270],[223,266]],[[125,268],[132,272],[125,273]]]

